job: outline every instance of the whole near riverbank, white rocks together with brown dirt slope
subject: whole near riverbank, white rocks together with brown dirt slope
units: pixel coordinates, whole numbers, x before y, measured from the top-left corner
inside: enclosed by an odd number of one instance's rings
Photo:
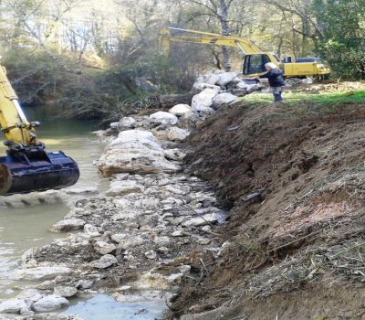
[[[13,276],[38,283],[0,304],[5,319],[77,319],[57,313],[98,293],[166,302],[171,319],[360,314],[362,102],[258,105],[233,93],[262,87],[235,76],[100,133],[109,190],[51,227],[67,238],[26,252]]]

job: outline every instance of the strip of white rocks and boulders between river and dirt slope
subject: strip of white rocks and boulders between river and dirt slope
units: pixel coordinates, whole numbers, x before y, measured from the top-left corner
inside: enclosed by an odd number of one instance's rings
[[[260,88],[236,76],[205,75],[191,106],[125,117],[101,133],[110,144],[97,165],[110,189],[79,198],[50,228],[70,232],[67,238],[26,251],[12,277],[36,283],[3,301],[0,319],[78,319],[57,310],[105,291],[120,302],[166,299],[184,277],[203,277],[224,250],[214,229],[226,216],[214,189],[184,171],[189,150],[181,145],[206,116],[235,101],[227,89]]]

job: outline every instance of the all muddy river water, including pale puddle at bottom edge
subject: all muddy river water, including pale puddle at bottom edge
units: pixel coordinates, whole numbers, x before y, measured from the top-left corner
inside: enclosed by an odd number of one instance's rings
[[[95,133],[96,123],[78,122],[49,118],[44,112],[26,111],[30,120],[42,123],[37,135],[47,145],[48,151],[62,150],[77,161],[80,178],[74,187],[97,187],[104,191],[109,183],[99,176],[97,167],[92,165],[99,159],[104,145],[100,144]],[[5,147],[0,146],[0,153],[5,154]],[[32,197],[32,195],[26,195]],[[37,197],[36,194],[34,197]],[[52,203],[31,203],[18,205],[19,196],[0,197],[0,299],[9,299],[19,293],[16,286],[26,283],[14,283],[9,280],[10,272],[20,266],[22,254],[32,248],[50,243],[62,235],[51,233],[48,228],[68,213],[68,206],[59,200]],[[9,206],[12,202],[16,206]],[[69,308],[72,314],[78,314],[85,320],[93,319],[150,319],[151,317],[135,317],[139,305],[116,304],[104,295],[89,301],[75,300]],[[137,308],[137,309],[136,309]],[[161,313],[161,305],[152,305],[155,315]],[[114,310],[115,315],[107,315],[107,310]],[[101,313],[101,314],[100,314]],[[150,314],[151,316],[151,314]],[[153,318],[154,318],[153,316]],[[152,318],[151,318],[152,319]]]

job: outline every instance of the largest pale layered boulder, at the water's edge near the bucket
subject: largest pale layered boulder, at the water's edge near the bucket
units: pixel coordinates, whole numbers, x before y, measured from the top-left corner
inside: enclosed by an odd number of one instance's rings
[[[99,160],[103,176],[119,173],[173,173],[180,166],[168,161],[161,144],[147,131],[127,130],[119,134],[105,149]]]

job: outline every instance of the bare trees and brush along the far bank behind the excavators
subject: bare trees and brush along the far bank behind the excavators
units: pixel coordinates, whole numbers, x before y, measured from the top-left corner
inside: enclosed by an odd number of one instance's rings
[[[333,77],[360,79],[363,2],[7,0],[2,63],[21,101],[79,118],[113,119],[130,101],[188,91],[198,72],[228,58],[242,68],[239,50],[179,43],[162,52],[169,26],[247,37],[282,57],[320,56]]]

